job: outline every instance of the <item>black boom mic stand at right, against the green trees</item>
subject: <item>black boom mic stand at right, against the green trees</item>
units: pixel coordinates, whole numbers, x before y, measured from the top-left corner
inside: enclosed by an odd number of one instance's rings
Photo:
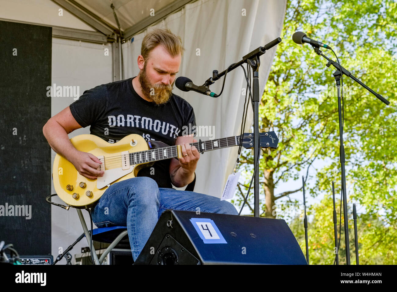
[[[360,80],[358,80],[356,77],[354,77],[349,71],[347,71],[345,68],[342,66],[339,66],[338,63],[334,62],[327,56],[325,56],[322,51],[320,50],[319,46],[316,46],[314,44],[311,44],[314,52],[318,54],[319,56],[323,56],[328,60],[327,67],[330,67],[333,65],[336,68],[336,71],[333,73],[333,77],[335,78],[336,82],[336,87],[338,91],[338,115],[339,115],[339,140],[340,140],[340,147],[339,147],[339,158],[341,161],[341,172],[342,172],[342,195],[343,195],[343,220],[345,224],[345,245],[346,245],[346,264],[350,265],[350,248],[349,248],[349,224],[348,224],[348,218],[347,218],[347,194],[346,194],[346,174],[345,174],[345,147],[343,147],[343,126],[342,126],[342,106],[341,106],[341,76],[342,74],[345,74],[347,77],[350,77],[354,81],[356,81],[358,84],[360,84],[362,87],[367,89],[370,93],[375,95],[378,99],[380,99],[382,102],[385,104],[389,104],[390,102],[384,99],[382,95],[376,93],[372,89],[370,89],[368,86],[366,86],[364,83],[362,83]]]

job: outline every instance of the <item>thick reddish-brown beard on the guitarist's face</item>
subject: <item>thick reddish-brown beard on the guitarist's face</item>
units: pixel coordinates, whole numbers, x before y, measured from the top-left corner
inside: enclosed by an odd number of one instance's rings
[[[146,77],[145,64],[142,72],[139,74],[139,83],[141,84],[143,95],[153,101],[156,105],[160,105],[166,103],[170,99],[175,80],[172,85],[150,84]]]

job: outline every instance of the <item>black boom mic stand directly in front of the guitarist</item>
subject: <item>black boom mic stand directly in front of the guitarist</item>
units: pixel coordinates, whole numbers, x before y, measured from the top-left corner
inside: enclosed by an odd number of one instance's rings
[[[241,66],[243,63],[249,64],[252,67],[252,71],[254,72],[253,77],[253,108],[254,108],[254,163],[258,161],[259,152],[259,65],[260,60],[259,57],[263,55],[266,50],[269,50],[273,46],[281,43],[281,38],[274,39],[268,44],[264,46],[260,46],[249,52],[247,55],[243,57],[243,60],[239,61],[238,63],[233,63],[227,70],[224,70],[221,73],[218,73],[217,70],[212,72],[212,77],[208,78],[204,85],[208,89],[208,87],[213,84],[216,80],[220,79],[225,73],[229,73],[231,70]],[[255,169],[255,165],[254,165]],[[259,168],[254,174],[254,217],[259,217]]]

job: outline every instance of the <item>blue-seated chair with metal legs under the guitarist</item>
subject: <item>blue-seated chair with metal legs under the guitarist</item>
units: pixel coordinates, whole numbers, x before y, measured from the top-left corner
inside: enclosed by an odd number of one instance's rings
[[[185,191],[193,191],[194,187],[195,187],[195,183],[196,183],[196,174],[195,174],[195,178],[194,178],[193,182],[191,182],[190,184],[188,184],[186,186]],[[47,202],[52,205],[57,205],[59,207],[62,207],[64,209],[68,210],[70,206],[64,206],[64,205],[60,205],[57,203],[52,203],[51,201],[48,200],[50,197],[52,197],[54,195],[57,195],[57,194],[48,196],[46,199]],[[81,209],[76,208],[76,210],[77,210],[77,214],[79,216],[80,222],[81,222],[81,226],[83,227],[83,230],[84,230],[85,238],[87,238],[87,243],[90,248],[90,252],[93,255],[93,260],[94,260],[95,265],[102,265],[106,256],[110,253],[110,251],[112,251],[112,249],[114,249],[114,247],[117,244],[119,244],[119,242],[121,240],[127,238],[127,240],[125,242],[126,243],[128,242],[128,244],[129,244],[127,226],[110,226],[110,227],[95,228],[95,229],[93,229],[93,235],[92,235],[93,240],[95,240],[97,242],[110,243],[110,246],[108,246],[108,248],[105,249],[105,251],[102,253],[100,258],[98,259],[98,256],[96,255],[96,250],[94,249],[94,246],[91,247],[91,232],[87,228],[87,224],[84,220],[83,213],[81,212]],[[78,240],[75,243],[77,243],[77,242],[78,242]]]

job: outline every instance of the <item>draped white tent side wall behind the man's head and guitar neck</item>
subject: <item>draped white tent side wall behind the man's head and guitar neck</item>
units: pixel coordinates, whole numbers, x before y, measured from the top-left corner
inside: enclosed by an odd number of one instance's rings
[[[199,0],[185,7],[152,27],[169,28],[182,39],[185,52],[178,76],[186,76],[197,85],[212,76],[212,70],[222,72],[234,62],[258,46],[280,37],[285,15],[285,0]],[[243,16],[245,9],[246,16]],[[150,28],[152,28],[150,27]],[[141,54],[146,29],[122,45],[124,78],[139,73],[137,57]],[[197,56],[197,49],[200,55]],[[276,47],[260,57],[259,92],[262,93],[268,79]],[[246,64],[245,64],[246,65]],[[246,68],[246,66],[244,66]],[[220,93],[223,77],[210,88]],[[194,108],[197,126],[208,126],[214,133],[202,140],[238,135],[246,89],[243,70],[237,68],[227,74],[225,88],[216,99],[198,93],[173,92],[186,99]],[[246,122],[248,131],[252,125],[252,109],[249,106]],[[209,133],[209,132],[207,132]],[[235,166],[237,148],[230,147],[200,155],[195,191],[221,197],[227,179]]]

